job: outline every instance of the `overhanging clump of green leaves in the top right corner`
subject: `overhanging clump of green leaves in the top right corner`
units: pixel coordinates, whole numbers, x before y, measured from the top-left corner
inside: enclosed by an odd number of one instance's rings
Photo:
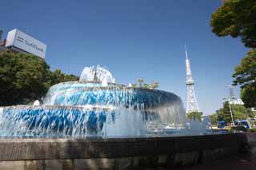
[[[242,38],[246,47],[256,47],[256,1],[227,0],[212,14],[210,26],[218,37]]]

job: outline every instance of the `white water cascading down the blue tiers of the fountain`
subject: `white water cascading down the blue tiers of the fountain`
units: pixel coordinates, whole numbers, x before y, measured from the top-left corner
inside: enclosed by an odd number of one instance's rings
[[[112,74],[97,66],[86,67],[80,81],[52,86],[43,105],[0,110],[0,135],[147,136],[165,125],[178,131],[185,119],[174,93],[115,84]]]

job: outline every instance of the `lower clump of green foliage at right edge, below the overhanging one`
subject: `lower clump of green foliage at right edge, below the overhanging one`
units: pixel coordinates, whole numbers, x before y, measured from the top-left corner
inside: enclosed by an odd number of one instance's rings
[[[241,85],[241,97],[245,106],[256,107],[256,49],[252,49],[242,58],[234,69],[234,85]]]

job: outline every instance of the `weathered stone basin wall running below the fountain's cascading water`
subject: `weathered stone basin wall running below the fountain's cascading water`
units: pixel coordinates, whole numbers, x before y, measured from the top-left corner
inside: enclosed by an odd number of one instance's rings
[[[245,148],[245,133],[102,140],[2,139],[1,170],[170,168]]]

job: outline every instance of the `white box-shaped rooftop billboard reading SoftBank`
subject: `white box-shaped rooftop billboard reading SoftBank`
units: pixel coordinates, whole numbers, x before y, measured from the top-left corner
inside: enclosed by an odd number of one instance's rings
[[[27,53],[32,53],[38,57],[46,57],[46,44],[17,29],[10,30],[8,32],[6,38],[6,47],[14,47],[13,49],[19,49]]]

